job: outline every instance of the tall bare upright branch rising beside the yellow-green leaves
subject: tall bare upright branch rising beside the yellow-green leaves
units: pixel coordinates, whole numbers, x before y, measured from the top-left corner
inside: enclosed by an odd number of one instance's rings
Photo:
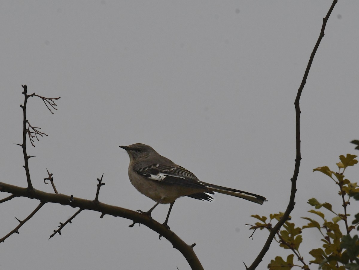
[[[256,257],[256,259],[253,261],[252,265],[250,267],[248,267],[249,270],[256,269],[256,267],[260,264],[260,262],[262,261],[264,255],[269,250],[270,244],[271,244],[273,238],[275,237],[276,233],[279,231],[280,227],[282,227],[282,225],[288,220],[290,212],[292,212],[292,210],[294,209],[294,204],[295,204],[294,199],[295,199],[295,193],[297,191],[297,178],[298,178],[298,174],[299,174],[300,160],[302,159],[302,157],[300,155],[300,107],[299,107],[299,99],[300,99],[300,96],[302,95],[304,85],[307,82],[307,77],[308,77],[308,74],[309,74],[309,70],[310,70],[310,68],[312,66],[314,55],[316,54],[316,51],[317,51],[317,49],[319,47],[319,44],[320,44],[322,38],[324,37],[324,30],[325,30],[325,26],[327,24],[328,18],[330,16],[330,14],[332,13],[332,10],[334,9],[334,6],[335,6],[336,3],[337,3],[337,0],[334,0],[331,7],[330,7],[330,9],[329,9],[329,11],[328,11],[328,13],[327,13],[327,15],[325,16],[325,18],[323,18],[323,24],[322,24],[321,32],[319,34],[319,38],[317,40],[317,43],[314,46],[313,52],[311,54],[311,57],[309,58],[309,62],[308,62],[306,71],[304,72],[302,83],[299,86],[297,97],[295,98],[295,101],[294,101],[294,106],[295,106],[295,138],[296,138],[297,153],[296,153],[296,157],[295,157],[295,165],[294,165],[293,177],[292,177],[292,179],[290,179],[292,181],[292,188],[291,188],[291,193],[290,193],[289,204],[288,204],[287,209],[285,210],[285,212],[283,214],[283,217],[279,220],[279,222],[273,227],[272,231],[269,233],[267,241],[265,242],[262,250],[260,251],[260,253]]]

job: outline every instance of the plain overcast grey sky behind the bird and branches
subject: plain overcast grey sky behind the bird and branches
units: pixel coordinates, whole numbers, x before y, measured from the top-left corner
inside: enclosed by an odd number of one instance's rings
[[[13,143],[21,142],[27,84],[29,93],[61,96],[54,115],[40,99],[28,102],[29,122],[49,135],[28,147],[34,188],[52,192],[43,183],[47,168],[60,193],[94,199],[104,173],[101,202],[148,210],[153,201],[131,186],[128,155],[118,148],[146,143],[203,181],[268,199],[261,206],[218,194],[211,203],[185,197],[174,204],[169,226],[197,244],[205,269],[243,269],[267,237],[258,231],[248,239],[250,215],[288,204],[294,99],[331,2],[2,1],[1,181],[26,186]],[[349,143],[359,138],[358,10],[359,1],[337,3],[303,91],[298,226],[309,198],[340,203],[334,183],[312,169],[334,170],[339,155],[359,153]],[[348,169],[349,179],[357,175]],[[1,204],[0,237],[37,204]],[[189,269],[150,229],[97,212],[81,212],[47,241],[76,210],[46,204],[1,243],[1,269]],[[163,222],[167,210],[159,206],[154,219]],[[310,248],[301,251],[307,262]],[[258,269],[279,254],[288,253],[272,243]]]

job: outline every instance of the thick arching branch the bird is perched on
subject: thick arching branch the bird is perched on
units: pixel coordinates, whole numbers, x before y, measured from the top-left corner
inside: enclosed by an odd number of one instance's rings
[[[0,192],[12,193],[19,197],[38,199],[41,200],[41,202],[46,203],[59,203],[62,205],[70,205],[71,207],[79,207],[83,210],[93,210],[102,213],[102,215],[107,214],[114,217],[131,219],[135,223],[144,224],[145,226],[157,232],[159,235],[162,235],[169,242],[171,242],[172,246],[178,251],[180,251],[182,255],[186,258],[188,264],[190,264],[192,269],[203,269],[195,252],[193,251],[194,245],[187,245],[174,232],[167,229],[165,226],[155,221],[154,219],[150,219],[148,215],[141,214],[122,207],[104,204],[96,200],[85,200],[81,198],[76,198],[72,195],[69,196],[65,194],[53,194],[35,189],[29,191],[27,188],[10,185],[3,182],[0,182]]]

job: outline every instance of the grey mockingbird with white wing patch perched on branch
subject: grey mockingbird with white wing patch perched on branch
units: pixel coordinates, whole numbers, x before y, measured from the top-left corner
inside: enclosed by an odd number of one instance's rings
[[[266,201],[266,198],[257,194],[202,182],[192,172],[174,164],[143,143],[120,147],[125,149],[130,156],[129,178],[131,184],[140,193],[157,202],[147,212],[137,211],[151,217],[151,212],[157,205],[169,203],[168,214],[163,223],[166,227],[168,227],[168,217],[174,201],[181,196],[211,201],[213,198],[208,193],[214,194],[213,191],[215,191],[259,204]]]

